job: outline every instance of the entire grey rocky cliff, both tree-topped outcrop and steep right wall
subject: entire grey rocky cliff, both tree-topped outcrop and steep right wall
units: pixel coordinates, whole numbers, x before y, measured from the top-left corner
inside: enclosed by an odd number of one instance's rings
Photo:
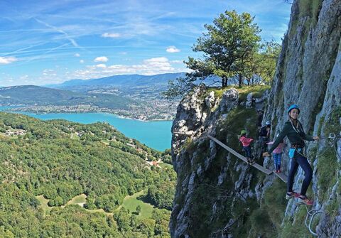
[[[271,134],[288,119],[288,104],[301,106],[308,134],[341,136],[341,1],[295,1],[264,105]],[[264,100],[258,99],[257,102]],[[172,237],[309,237],[305,207],[286,202],[284,183],[265,176],[207,139],[207,134],[241,152],[240,129],[256,136],[256,110],[237,90],[207,90],[186,96],[173,123],[172,153],[178,185],[171,217]],[[241,105],[242,103],[242,105]],[[258,157],[257,144],[255,156]],[[314,170],[308,195],[319,211],[311,228],[318,237],[341,237],[341,140],[310,142]],[[338,153],[337,153],[338,152]],[[283,156],[283,171],[288,169]],[[257,161],[271,168],[271,159]],[[301,188],[298,171],[294,188]],[[299,190],[299,189],[298,189]],[[259,219],[262,220],[261,224]]]

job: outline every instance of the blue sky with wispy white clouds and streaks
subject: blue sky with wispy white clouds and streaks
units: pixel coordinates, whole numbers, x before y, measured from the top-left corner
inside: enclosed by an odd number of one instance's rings
[[[183,60],[224,11],[249,12],[281,43],[283,0],[0,0],[0,86],[187,72]]]

